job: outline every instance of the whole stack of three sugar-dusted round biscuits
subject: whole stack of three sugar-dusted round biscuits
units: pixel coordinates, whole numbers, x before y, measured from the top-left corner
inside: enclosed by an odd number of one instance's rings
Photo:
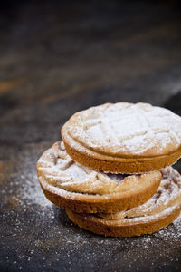
[[[146,103],[75,113],[37,162],[43,193],[80,228],[112,237],[152,233],[181,211],[181,117]]]

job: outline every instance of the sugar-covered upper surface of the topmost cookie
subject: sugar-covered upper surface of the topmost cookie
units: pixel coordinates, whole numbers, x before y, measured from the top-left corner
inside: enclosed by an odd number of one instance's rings
[[[181,145],[181,118],[146,103],[107,103],[74,114],[62,133],[79,148],[81,143],[112,155],[160,155]]]

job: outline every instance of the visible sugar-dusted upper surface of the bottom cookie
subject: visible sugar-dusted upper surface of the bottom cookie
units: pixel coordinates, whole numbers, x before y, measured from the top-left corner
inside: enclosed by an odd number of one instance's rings
[[[115,214],[100,214],[100,217],[121,222],[148,221],[171,213],[181,206],[181,176],[172,167],[162,170],[163,178],[157,193],[144,204]]]

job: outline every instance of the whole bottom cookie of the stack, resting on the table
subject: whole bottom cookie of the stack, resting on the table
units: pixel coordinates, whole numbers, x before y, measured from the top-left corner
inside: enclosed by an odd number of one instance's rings
[[[66,210],[80,228],[112,237],[150,234],[169,225],[181,211],[181,176],[171,167],[163,170],[157,193],[137,208],[112,214],[79,214]]]

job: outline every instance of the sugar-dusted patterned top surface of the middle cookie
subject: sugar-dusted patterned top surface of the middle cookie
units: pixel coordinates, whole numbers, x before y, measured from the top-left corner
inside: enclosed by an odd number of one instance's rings
[[[71,192],[103,195],[137,189],[142,182],[139,175],[105,174],[74,162],[62,141],[43,153],[37,167],[49,184]]]

